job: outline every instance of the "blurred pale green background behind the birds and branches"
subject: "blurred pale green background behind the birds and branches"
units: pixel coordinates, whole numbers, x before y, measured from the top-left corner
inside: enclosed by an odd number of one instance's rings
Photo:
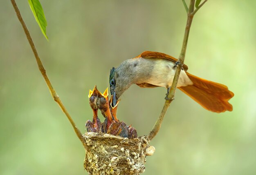
[[[41,0],[49,42],[27,3],[17,0],[47,74],[84,133],[88,92],[108,86],[112,66],[141,52],[178,57],[186,13],[181,0]],[[203,109],[177,91],[151,145],[145,175],[256,174],[256,3],[209,0],[196,14],[185,64],[226,84],[234,111]],[[0,174],[86,175],[84,149],[38,71],[10,1],[0,2]],[[131,86],[118,117],[148,134],[166,89]],[[101,116],[101,119],[103,117]]]

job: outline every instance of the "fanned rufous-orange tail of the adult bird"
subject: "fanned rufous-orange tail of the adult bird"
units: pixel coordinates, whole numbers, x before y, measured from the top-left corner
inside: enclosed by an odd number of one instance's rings
[[[198,102],[204,109],[216,113],[233,110],[233,106],[228,101],[234,96],[234,93],[229,91],[227,86],[204,80],[188,72],[186,74],[193,85],[178,88]]]

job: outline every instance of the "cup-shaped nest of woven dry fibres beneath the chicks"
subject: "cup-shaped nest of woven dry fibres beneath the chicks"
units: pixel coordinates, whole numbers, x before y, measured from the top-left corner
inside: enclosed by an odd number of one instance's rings
[[[145,171],[146,156],[155,151],[147,136],[128,139],[88,132],[83,137],[84,168],[90,175],[139,175]]]

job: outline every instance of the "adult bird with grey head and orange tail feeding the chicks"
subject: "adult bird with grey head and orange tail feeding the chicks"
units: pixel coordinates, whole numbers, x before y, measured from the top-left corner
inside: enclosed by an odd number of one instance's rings
[[[166,87],[169,91],[175,71],[179,64],[176,58],[164,53],[145,51],[139,56],[125,60],[117,68],[110,70],[110,92],[113,106],[120,96],[132,84],[141,88]],[[228,102],[234,96],[227,86],[196,77],[187,72],[188,66],[182,66],[177,87],[204,109],[221,113],[232,111]]]

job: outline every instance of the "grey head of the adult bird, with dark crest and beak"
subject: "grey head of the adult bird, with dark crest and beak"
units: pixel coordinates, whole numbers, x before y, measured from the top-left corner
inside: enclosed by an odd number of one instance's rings
[[[119,67],[113,67],[110,70],[109,84],[110,93],[113,95],[113,104],[111,104],[113,107],[124,91],[134,84],[133,80],[136,75],[130,64],[129,60],[126,60]]]

